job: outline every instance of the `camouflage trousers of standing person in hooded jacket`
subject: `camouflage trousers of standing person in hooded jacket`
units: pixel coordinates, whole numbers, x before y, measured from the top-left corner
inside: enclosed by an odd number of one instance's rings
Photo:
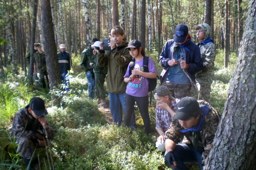
[[[211,85],[212,85],[212,77],[213,76],[200,76],[196,77],[198,83],[200,84],[200,93],[202,96],[199,96],[199,99],[203,99],[210,103],[211,101]]]

